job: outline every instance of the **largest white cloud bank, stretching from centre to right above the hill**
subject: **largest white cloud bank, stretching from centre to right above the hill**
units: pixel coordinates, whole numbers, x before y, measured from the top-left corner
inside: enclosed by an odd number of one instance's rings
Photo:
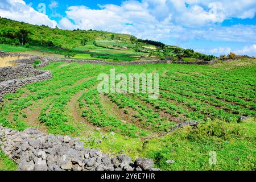
[[[185,2],[189,4],[186,7]],[[222,1],[201,0],[143,0],[124,1],[120,6],[100,5],[100,10],[92,10],[85,6],[68,7],[68,19],[61,20],[60,27],[95,29],[111,32],[132,34],[138,38],[162,40],[176,40],[177,44],[188,40],[213,40],[227,42],[250,42],[256,39],[256,26],[218,26],[217,22],[232,16],[240,16],[241,11],[254,5],[249,1],[241,5],[239,11],[233,11],[231,1],[229,5]],[[234,5],[237,5],[236,1]],[[250,7],[251,8],[251,7]],[[128,25],[127,25],[128,24]],[[133,24],[133,26],[129,26]]]

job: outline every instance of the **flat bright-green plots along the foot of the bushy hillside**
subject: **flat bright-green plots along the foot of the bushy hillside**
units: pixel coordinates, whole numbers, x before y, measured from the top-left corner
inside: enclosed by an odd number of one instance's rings
[[[131,50],[97,47],[92,42],[89,42],[85,46],[80,46],[73,49],[42,46],[29,46],[29,48],[26,48],[24,46],[0,44],[0,50],[24,53],[28,55],[50,56],[59,59],[68,56],[75,59],[98,59],[107,61],[133,61],[140,58],[142,55],[145,55],[144,53],[135,53]]]

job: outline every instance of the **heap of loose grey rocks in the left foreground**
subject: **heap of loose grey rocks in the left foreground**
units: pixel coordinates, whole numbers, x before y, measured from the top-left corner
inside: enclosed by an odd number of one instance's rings
[[[84,148],[79,138],[46,135],[38,129],[11,130],[0,126],[3,152],[22,171],[142,171],[154,169],[150,159],[133,163],[125,154],[110,158],[95,149]]]

